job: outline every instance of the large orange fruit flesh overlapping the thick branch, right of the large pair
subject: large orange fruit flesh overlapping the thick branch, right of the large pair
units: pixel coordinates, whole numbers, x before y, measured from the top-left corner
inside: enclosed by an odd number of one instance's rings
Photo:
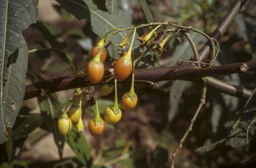
[[[123,59],[118,59],[114,67],[114,77],[117,81],[123,81],[129,77],[133,69],[132,63],[124,63]]]

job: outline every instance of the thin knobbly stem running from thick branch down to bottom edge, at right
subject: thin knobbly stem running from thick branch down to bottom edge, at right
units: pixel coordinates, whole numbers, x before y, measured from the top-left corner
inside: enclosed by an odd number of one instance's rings
[[[191,119],[191,123],[189,125],[189,127],[187,128],[187,131],[185,132],[185,134],[183,135],[183,137],[181,138],[181,140],[179,141],[179,145],[177,146],[175,152],[173,153],[172,157],[173,159],[171,160],[171,168],[174,168],[174,160],[175,160],[175,156],[177,155],[177,152],[179,151],[179,149],[181,149],[183,142],[185,141],[187,135],[189,134],[189,132],[192,130],[193,124],[195,123],[195,119],[197,119],[197,115],[199,114],[199,111],[201,110],[201,107],[203,107],[203,105],[205,104],[205,97],[206,97],[206,81],[205,78],[202,79],[203,83],[203,93],[202,93],[202,97],[201,97],[201,102],[199,104],[199,107],[197,107],[197,111],[195,111],[195,115],[193,116],[193,118]]]

